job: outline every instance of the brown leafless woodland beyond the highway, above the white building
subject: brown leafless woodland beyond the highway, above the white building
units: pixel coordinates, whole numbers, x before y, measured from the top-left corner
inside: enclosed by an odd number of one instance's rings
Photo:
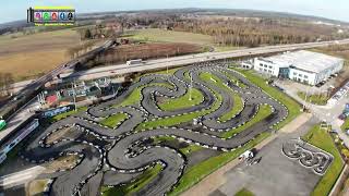
[[[219,45],[246,47],[329,40],[348,36],[337,35],[337,29],[332,26],[281,19],[186,19],[171,25],[174,30],[210,35]]]

